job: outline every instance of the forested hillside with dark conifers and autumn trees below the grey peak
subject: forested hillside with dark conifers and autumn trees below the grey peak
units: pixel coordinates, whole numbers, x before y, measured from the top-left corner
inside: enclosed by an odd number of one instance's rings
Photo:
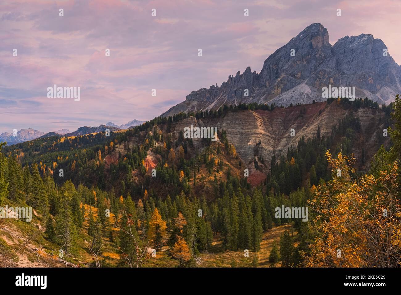
[[[34,216],[0,219],[0,266],[397,266],[400,104],[240,104],[2,146],[0,205]],[[296,136],[270,131],[276,118]],[[192,123],[219,140],[185,138]],[[307,220],[277,218],[282,205]]]

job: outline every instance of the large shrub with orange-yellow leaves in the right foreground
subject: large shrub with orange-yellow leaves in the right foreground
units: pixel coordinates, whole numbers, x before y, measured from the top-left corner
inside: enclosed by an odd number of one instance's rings
[[[339,153],[333,159],[329,151],[326,156],[332,180],[319,185],[309,201],[316,213],[311,222],[317,237],[310,256],[304,256],[306,266],[400,267],[397,163],[387,165],[378,176],[353,179],[353,156]]]

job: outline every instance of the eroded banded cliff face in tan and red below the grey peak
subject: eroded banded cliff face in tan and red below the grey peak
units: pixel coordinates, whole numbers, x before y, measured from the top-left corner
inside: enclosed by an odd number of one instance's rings
[[[321,136],[328,136],[332,127],[336,126],[342,118],[350,114],[352,110],[346,110],[342,106],[325,102],[299,105],[289,108],[275,108],[273,111],[264,110],[246,110],[238,112],[227,112],[219,118],[201,118],[196,120],[193,116],[177,122],[172,129],[172,133],[177,138],[184,127],[194,126],[217,127],[219,132],[222,129],[227,131],[227,139],[235,146],[245,167],[249,169],[250,176],[257,179],[261,171],[256,171],[253,165],[256,146],[258,145],[258,155],[263,157],[263,173],[270,169],[273,154],[276,159],[281,155],[286,155],[287,149],[296,148],[298,141],[302,136],[305,139],[316,136],[318,127],[320,127]],[[360,118],[362,127],[362,136],[366,159],[373,157],[379,148],[379,136],[383,128],[383,112],[373,108],[360,108],[354,114]],[[294,135],[291,136],[291,130],[294,129]],[[194,139],[194,146],[201,148],[200,139]],[[362,150],[360,146],[354,148],[356,158],[360,157]],[[369,162],[367,162],[369,163]],[[260,163],[259,163],[260,164]]]

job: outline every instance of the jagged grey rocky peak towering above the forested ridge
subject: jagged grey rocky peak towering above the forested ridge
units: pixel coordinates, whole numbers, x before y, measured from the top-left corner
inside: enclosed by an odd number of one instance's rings
[[[260,73],[247,67],[242,74],[230,75],[220,87],[192,91],[162,116],[250,102],[310,104],[326,100],[322,87],[329,84],[355,87],[357,98],[389,104],[401,93],[401,66],[373,35],[345,36],[331,45],[327,29],[314,23],[271,54]]]

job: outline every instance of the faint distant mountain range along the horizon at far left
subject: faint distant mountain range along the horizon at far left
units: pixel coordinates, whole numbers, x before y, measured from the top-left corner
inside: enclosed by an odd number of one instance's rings
[[[44,137],[49,137],[49,136],[79,136],[79,135],[84,135],[84,134],[91,134],[95,132],[104,132],[106,129],[109,129],[110,131],[116,131],[120,129],[128,129],[133,126],[140,125],[144,123],[145,121],[140,121],[140,120],[132,120],[128,122],[127,124],[123,124],[121,126],[117,126],[111,122],[108,122],[105,125],[100,125],[97,127],[88,127],[88,126],[83,126],[79,127],[76,131],[70,132],[68,129],[61,129],[57,131],[51,131],[48,133],[41,132],[32,128],[28,129],[21,129],[17,131],[17,136],[14,136],[12,133],[8,132],[3,132],[0,134],[0,142],[7,142],[7,145],[11,144],[16,144],[20,142],[25,142],[28,140],[33,140],[35,138],[44,138]]]

